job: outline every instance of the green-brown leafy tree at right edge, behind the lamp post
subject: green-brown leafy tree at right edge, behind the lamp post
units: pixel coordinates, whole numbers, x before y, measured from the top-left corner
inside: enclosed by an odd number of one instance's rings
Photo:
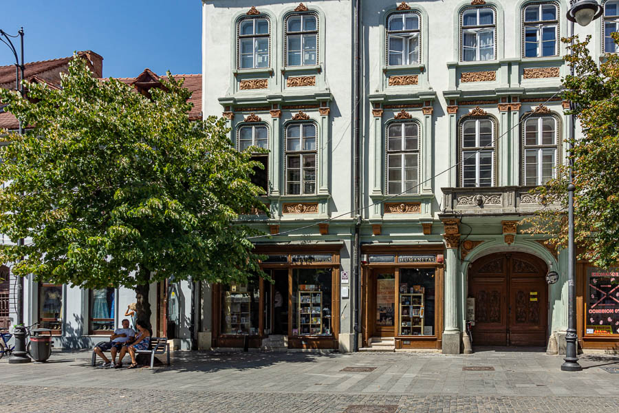
[[[613,39],[618,42],[619,34]],[[584,250],[580,257],[605,268],[619,261],[619,55],[605,54],[598,64],[589,54],[589,41],[576,36],[573,56],[565,57],[574,76],[563,80],[563,96],[574,107],[567,113],[576,116],[583,131],[571,142],[576,246]],[[559,246],[567,245],[568,178],[567,168],[558,167],[557,178],[536,189],[545,207],[529,220],[529,232],[548,233]]]

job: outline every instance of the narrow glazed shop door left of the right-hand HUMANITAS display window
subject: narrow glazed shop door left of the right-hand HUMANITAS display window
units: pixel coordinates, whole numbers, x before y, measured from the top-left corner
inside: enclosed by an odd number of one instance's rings
[[[374,337],[395,336],[395,271],[375,270],[373,276]]]

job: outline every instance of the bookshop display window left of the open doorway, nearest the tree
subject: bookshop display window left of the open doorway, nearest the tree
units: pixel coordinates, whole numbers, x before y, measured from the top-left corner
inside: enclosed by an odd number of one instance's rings
[[[258,279],[232,284],[221,291],[221,334],[257,335],[260,288]]]

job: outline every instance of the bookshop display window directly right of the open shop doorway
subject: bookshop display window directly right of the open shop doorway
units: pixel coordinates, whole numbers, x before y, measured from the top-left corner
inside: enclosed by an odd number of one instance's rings
[[[332,335],[332,270],[292,271],[292,335]]]

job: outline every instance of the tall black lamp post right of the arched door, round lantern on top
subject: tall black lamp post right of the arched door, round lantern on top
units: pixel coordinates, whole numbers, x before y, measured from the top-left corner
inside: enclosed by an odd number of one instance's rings
[[[586,26],[594,19],[597,19],[602,15],[602,6],[598,4],[596,0],[576,0],[572,1],[572,7],[567,11],[567,20],[571,21],[572,33],[574,36],[574,22],[581,26]],[[574,45],[574,41],[572,41]],[[574,51],[572,50],[572,53]],[[572,67],[572,76],[574,75],[574,68]],[[572,103],[570,103],[570,109]],[[574,130],[576,124],[574,122],[574,115],[570,116],[571,127],[569,128],[569,142],[567,150],[572,153],[572,145],[574,145]],[[567,244],[567,334],[565,335],[566,348],[565,348],[565,362],[561,365],[561,370],[564,372],[578,372],[583,370],[578,364],[578,352],[577,342],[578,335],[576,334],[576,273],[574,268],[576,267],[575,260],[575,247],[574,247],[574,160],[569,159],[569,184],[567,185],[567,220],[568,220],[568,237]]]

